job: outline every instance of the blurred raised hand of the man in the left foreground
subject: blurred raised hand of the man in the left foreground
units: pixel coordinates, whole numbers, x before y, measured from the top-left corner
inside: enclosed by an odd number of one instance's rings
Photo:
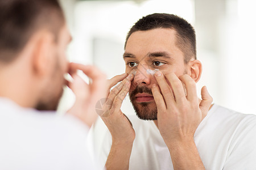
[[[92,82],[87,84],[77,75],[77,70],[81,70]],[[90,127],[98,116],[95,105],[105,95],[106,76],[95,66],[79,63],[69,63],[69,74],[73,77],[73,82],[67,82],[67,85],[75,94],[76,101],[68,113]]]

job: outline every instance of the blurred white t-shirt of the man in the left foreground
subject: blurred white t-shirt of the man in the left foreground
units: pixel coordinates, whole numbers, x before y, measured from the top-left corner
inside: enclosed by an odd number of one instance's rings
[[[0,169],[96,169],[87,134],[71,115],[21,108],[0,97]]]

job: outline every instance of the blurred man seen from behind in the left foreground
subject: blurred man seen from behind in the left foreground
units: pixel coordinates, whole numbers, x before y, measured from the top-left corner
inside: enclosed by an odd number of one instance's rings
[[[96,169],[86,134],[97,118],[105,76],[93,66],[68,63],[70,40],[57,0],[0,1],[0,169]],[[66,83],[76,101],[56,117]]]

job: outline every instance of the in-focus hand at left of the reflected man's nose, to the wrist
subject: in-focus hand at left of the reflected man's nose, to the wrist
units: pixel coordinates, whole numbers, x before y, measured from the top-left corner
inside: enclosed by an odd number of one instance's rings
[[[100,116],[112,134],[112,143],[114,145],[132,145],[135,138],[135,131],[130,121],[121,111],[122,102],[129,92],[133,78],[133,74],[128,76],[127,74],[122,74],[108,80],[106,103],[102,107],[103,111]],[[110,91],[120,81],[122,82]]]

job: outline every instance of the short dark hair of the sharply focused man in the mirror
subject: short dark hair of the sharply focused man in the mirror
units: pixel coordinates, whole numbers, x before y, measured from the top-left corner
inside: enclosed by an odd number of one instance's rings
[[[139,19],[127,34],[126,43],[132,33],[156,28],[171,28],[176,31],[176,45],[184,54],[184,63],[196,59],[195,29],[185,19],[173,14],[151,14]]]

